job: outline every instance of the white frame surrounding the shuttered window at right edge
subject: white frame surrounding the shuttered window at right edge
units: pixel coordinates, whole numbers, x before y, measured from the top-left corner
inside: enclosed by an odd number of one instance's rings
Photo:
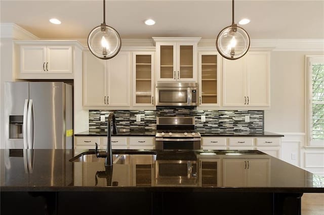
[[[307,130],[307,145],[314,147],[324,147],[324,140],[313,140],[312,139],[312,127],[313,127],[313,113],[312,113],[312,63],[323,63],[324,55],[318,56],[305,56],[305,106],[306,106],[306,117],[305,127]]]

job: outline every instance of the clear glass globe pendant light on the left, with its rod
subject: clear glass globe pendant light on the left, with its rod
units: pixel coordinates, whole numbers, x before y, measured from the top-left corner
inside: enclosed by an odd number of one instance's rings
[[[106,25],[105,0],[103,0],[103,23],[89,33],[88,47],[94,56],[107,60],[115,57],[120,50],[121,40],[118,32]]]

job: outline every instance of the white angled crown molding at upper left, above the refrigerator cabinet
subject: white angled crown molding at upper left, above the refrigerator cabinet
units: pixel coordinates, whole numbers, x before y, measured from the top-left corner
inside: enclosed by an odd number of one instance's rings
[[[0,23],[0,38],[39,39],[15,23]]]

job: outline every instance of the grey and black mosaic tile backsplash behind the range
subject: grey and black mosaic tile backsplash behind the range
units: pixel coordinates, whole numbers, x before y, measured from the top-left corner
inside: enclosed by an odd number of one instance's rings
[[[264,130],[264,111],[218,111],[195,110],[186,108],[160,108],[151,111],[89,111],[89,132],[107,131],[107,117],[114,112],[118,132],[155,132],[156,117],[195,117],[195,129],[200,133],[214,132],[262,132]],[[100,116],[105,115],[105,122],[100,122]],[[136,116],[141,116],[141,122],[136,122]],[[206,122],[201,122],[201,115],[206,116]],[[250,115],[250,122],[245,122],[245,116]]]

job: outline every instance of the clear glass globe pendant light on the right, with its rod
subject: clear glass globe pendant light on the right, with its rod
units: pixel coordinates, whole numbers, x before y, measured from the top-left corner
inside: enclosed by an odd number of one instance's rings
[[[243,57],[250,48],[249,34],[243,28],[234,24],[234,0],[232,0],[232,25],[219,32],[216,48],[221,56],[229,60]]]

